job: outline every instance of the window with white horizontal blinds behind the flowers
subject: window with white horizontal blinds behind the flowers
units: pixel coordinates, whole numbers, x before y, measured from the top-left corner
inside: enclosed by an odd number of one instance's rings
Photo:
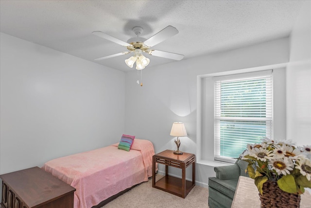
[[[214,77],[215,160],[233,161],[249,143],[273,137],[271,71]]]

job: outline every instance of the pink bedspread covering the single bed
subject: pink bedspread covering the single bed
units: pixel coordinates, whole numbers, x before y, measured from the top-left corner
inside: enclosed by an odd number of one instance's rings
[[[120,191],[152,176],[153,144],[135,139],[130,151],[118,149],[118,143],[45,163],[52,173],[76,189],[74,208],[91,208]]]

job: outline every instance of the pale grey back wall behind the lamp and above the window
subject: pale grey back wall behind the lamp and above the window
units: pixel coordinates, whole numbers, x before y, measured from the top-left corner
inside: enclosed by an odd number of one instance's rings
[[[125,131],[151,140],[155,152],[174,150],[174,138],[170,136],[172,123],[184,122],[188,137],[180,138],[180,151],[196,153],[197,145],[201,146],[197,135],[197,76],[287,63],[288,41],[288,38],[281,38],[159,67],[146,67],[143,87],[136,84],[137,73],[127,73]],[[285,104],[282,108],[285,112]],[[180,175],[178,170],[171,173]],[[208,176],[214,174],[213,166],[197,164],[197,184],[207,185]]]

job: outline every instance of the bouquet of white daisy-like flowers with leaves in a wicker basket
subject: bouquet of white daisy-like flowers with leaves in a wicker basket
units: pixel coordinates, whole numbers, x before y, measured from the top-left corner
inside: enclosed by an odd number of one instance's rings
[[[260,144],[248,144],[241,154],[241,159],[248,162],[245,171],[255,180],[259,190],[261,205],[268,200],[269,206],[275,203],[277,207],[280,207],[279,200],[288,207],[291,203],[288,200],[293,200],[293,195],[297,198],[295,206],[299,207],[300,194],[305,188],[311,188],[310,158],[311,145],[296,147],[291,141],[274,141],[267,137]],[[275,188],[282,196],[276,196],[276,202],[273,202],[271,195],[276,192]],[[265,192],[269,192],[269,196],[264,196]],[[284,192],[288,200],[284,198]]]

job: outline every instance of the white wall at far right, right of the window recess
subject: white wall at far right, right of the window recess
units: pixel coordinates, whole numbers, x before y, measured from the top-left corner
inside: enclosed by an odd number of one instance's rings
[[[287,138],[311,145],[311,1],[306,1],[290,36],[286,74]]]

